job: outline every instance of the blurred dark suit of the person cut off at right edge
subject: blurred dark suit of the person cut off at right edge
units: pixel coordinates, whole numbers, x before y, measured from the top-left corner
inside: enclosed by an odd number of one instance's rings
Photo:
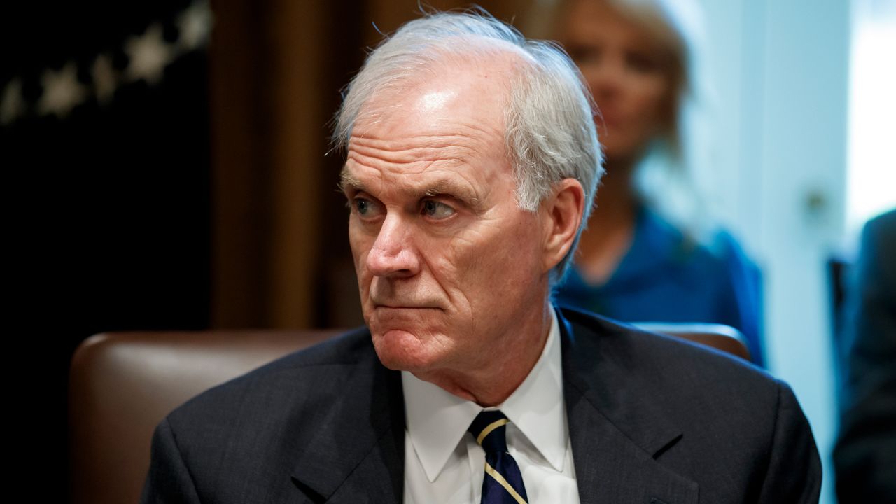
[[[896,502],[896,210],[866,224],[855,273],[833,453],[837,498]]]

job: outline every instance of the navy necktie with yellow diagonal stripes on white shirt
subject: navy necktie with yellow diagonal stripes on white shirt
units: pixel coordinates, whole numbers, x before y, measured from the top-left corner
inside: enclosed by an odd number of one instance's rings
[[[526,504],[520,467],[507,452],[509,422],[504,413],[483,411],[470,424],[470,434],[486,450],[486,474],[482,480],[482,504]]]

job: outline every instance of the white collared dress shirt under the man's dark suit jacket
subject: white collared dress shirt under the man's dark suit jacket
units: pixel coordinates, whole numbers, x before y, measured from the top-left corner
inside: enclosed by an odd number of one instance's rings
[[[556,313],[535,367],[496,408],[510,419],[507,448],[520,466],[530,504],[578,503],[573,448],[566,424],[560,330]],[[406,504],[478,504],[485,451],[467,433],[484,408],[401,372],[407,416]]]

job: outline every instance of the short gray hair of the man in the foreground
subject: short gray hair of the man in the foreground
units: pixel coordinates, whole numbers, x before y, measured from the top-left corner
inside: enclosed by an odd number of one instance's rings
[[[459,44],[459,39],[470,43]],[[362,107],[376,93],[419,78],[445,56],[469,59],[507,48],[522,56],[511,79],[504,115],[504,143],[513,166],[517,204],[537,211],[564,178],[577,179],[585,191],[585,211],[573,247],[550,275],[554,285],[573,260],[603,175],[594,102],[563,49],[550,42],[527,40],[519,30],[484,10],[425,13],[383,40],[367,57],[345,92],[333,143],[340,149],[348,146]]]

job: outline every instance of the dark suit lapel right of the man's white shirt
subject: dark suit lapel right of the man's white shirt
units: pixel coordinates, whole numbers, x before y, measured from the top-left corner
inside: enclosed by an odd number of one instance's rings
[[[663,420],[650,393],[628,369],[607,359],[607,335],[563,335],[564,399],[582,504],[592,502],[697,502],[697,483],[655,459],[674,447],[681,431]],[[612,352],[609,352],[612,353]]]

